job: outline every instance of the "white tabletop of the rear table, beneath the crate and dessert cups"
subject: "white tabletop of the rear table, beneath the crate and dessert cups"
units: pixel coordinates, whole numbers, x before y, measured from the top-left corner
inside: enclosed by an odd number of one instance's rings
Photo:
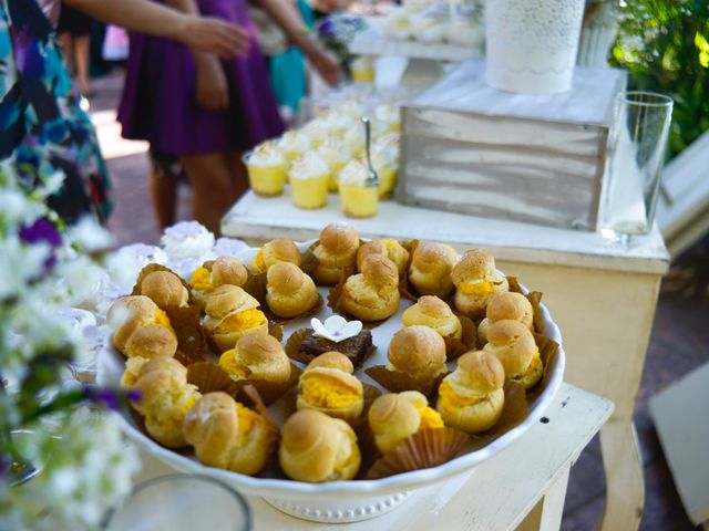
[[[459,249],[481,246],[496,257],[530,263],[664,274],[669,256],[654,227],[628,248],[608,242],[597,232],[531,226],[515,221],[476,218],[381,201],[376,217],[346,218],[339,197],[331,194],[319,210],[292,205],[290,190],[282,196],[261,198],[247,192],[225,216],[222,232],[233,238],[264,241],[279,236],[294,240],[317,238],[332,221],[347,221],[369,238],[392,237],[444,241]]]

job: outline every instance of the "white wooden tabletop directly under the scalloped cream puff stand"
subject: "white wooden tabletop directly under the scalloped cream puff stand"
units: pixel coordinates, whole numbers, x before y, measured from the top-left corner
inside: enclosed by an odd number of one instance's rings
[[[453,478],[415,491],[392,512],[351,524],[328,525],[288,517],[263,499],[247,496],[256,531],[288,530],[512,530],[546,493],[549,514],[563,509],[568,468],[608,419],[613,403],[568,384],[559,389],[537,424],[513,445],[476,468],[470,478]],[[173,473],[143,455],[137,481]],[[552,510],[552,506],[554,509]],[[553,522],[554,520],[549,520]],[[544,529],[558,529],[544,528]]]

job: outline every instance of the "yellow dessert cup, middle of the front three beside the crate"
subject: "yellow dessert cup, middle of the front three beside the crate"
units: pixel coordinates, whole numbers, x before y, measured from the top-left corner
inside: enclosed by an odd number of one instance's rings
[[[315,209],[327,205],[330,168],[320,155],[315,152],[302,154],[290,165],[288,176],[296,207]]]

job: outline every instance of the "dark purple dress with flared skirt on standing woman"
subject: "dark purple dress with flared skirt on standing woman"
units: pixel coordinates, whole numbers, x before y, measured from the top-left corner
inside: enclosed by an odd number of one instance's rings
[[[229,110],[214,113],[196,104],[195,62],[186,45],[134,33],[119,107],[123,136],[148,140],[155,152],[186,155],[244,150],[279,135],[284,124],[245,0],[197,0],[197,4],[203,15],[233,22],[251,38],[246,58],[222,63]]]

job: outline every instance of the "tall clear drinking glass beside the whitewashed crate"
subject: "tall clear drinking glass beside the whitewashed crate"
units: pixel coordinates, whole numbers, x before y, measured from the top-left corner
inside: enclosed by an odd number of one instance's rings
[[[618,95],[609,143],[608,181],[602,208],[602,233],[628,244],[653,229],[672,100],[651,92]]]

